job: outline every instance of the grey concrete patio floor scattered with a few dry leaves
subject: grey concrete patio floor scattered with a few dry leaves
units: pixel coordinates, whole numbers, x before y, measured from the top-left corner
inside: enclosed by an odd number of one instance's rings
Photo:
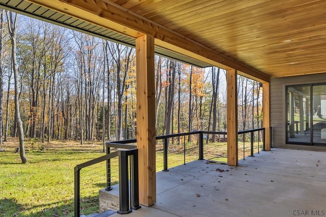
[[[237,167],[195,161],[156,179],[156,204],[128,217],[326,216],[326,152],[273,148]]]

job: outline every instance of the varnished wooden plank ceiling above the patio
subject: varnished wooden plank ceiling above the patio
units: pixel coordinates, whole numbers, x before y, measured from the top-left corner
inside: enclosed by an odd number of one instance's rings
[[[326,72],[326,1],[112,0],[270,77]]]

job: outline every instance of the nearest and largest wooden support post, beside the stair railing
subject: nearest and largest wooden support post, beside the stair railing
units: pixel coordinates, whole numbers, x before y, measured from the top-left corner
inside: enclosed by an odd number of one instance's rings
[[[137,147],[139,149],[139,202],[156,202],[154,38],[136,39]]]

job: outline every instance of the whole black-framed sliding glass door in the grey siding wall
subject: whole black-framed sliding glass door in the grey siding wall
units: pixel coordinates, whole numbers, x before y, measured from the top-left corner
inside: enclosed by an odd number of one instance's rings
[[[326,144],[326,84],[287,86],[287,143]]]

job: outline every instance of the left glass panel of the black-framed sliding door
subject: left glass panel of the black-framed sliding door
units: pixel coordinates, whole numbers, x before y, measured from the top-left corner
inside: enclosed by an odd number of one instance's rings
[[[311,85],[287,87],[287,142],[311,143],[310,132]]]

